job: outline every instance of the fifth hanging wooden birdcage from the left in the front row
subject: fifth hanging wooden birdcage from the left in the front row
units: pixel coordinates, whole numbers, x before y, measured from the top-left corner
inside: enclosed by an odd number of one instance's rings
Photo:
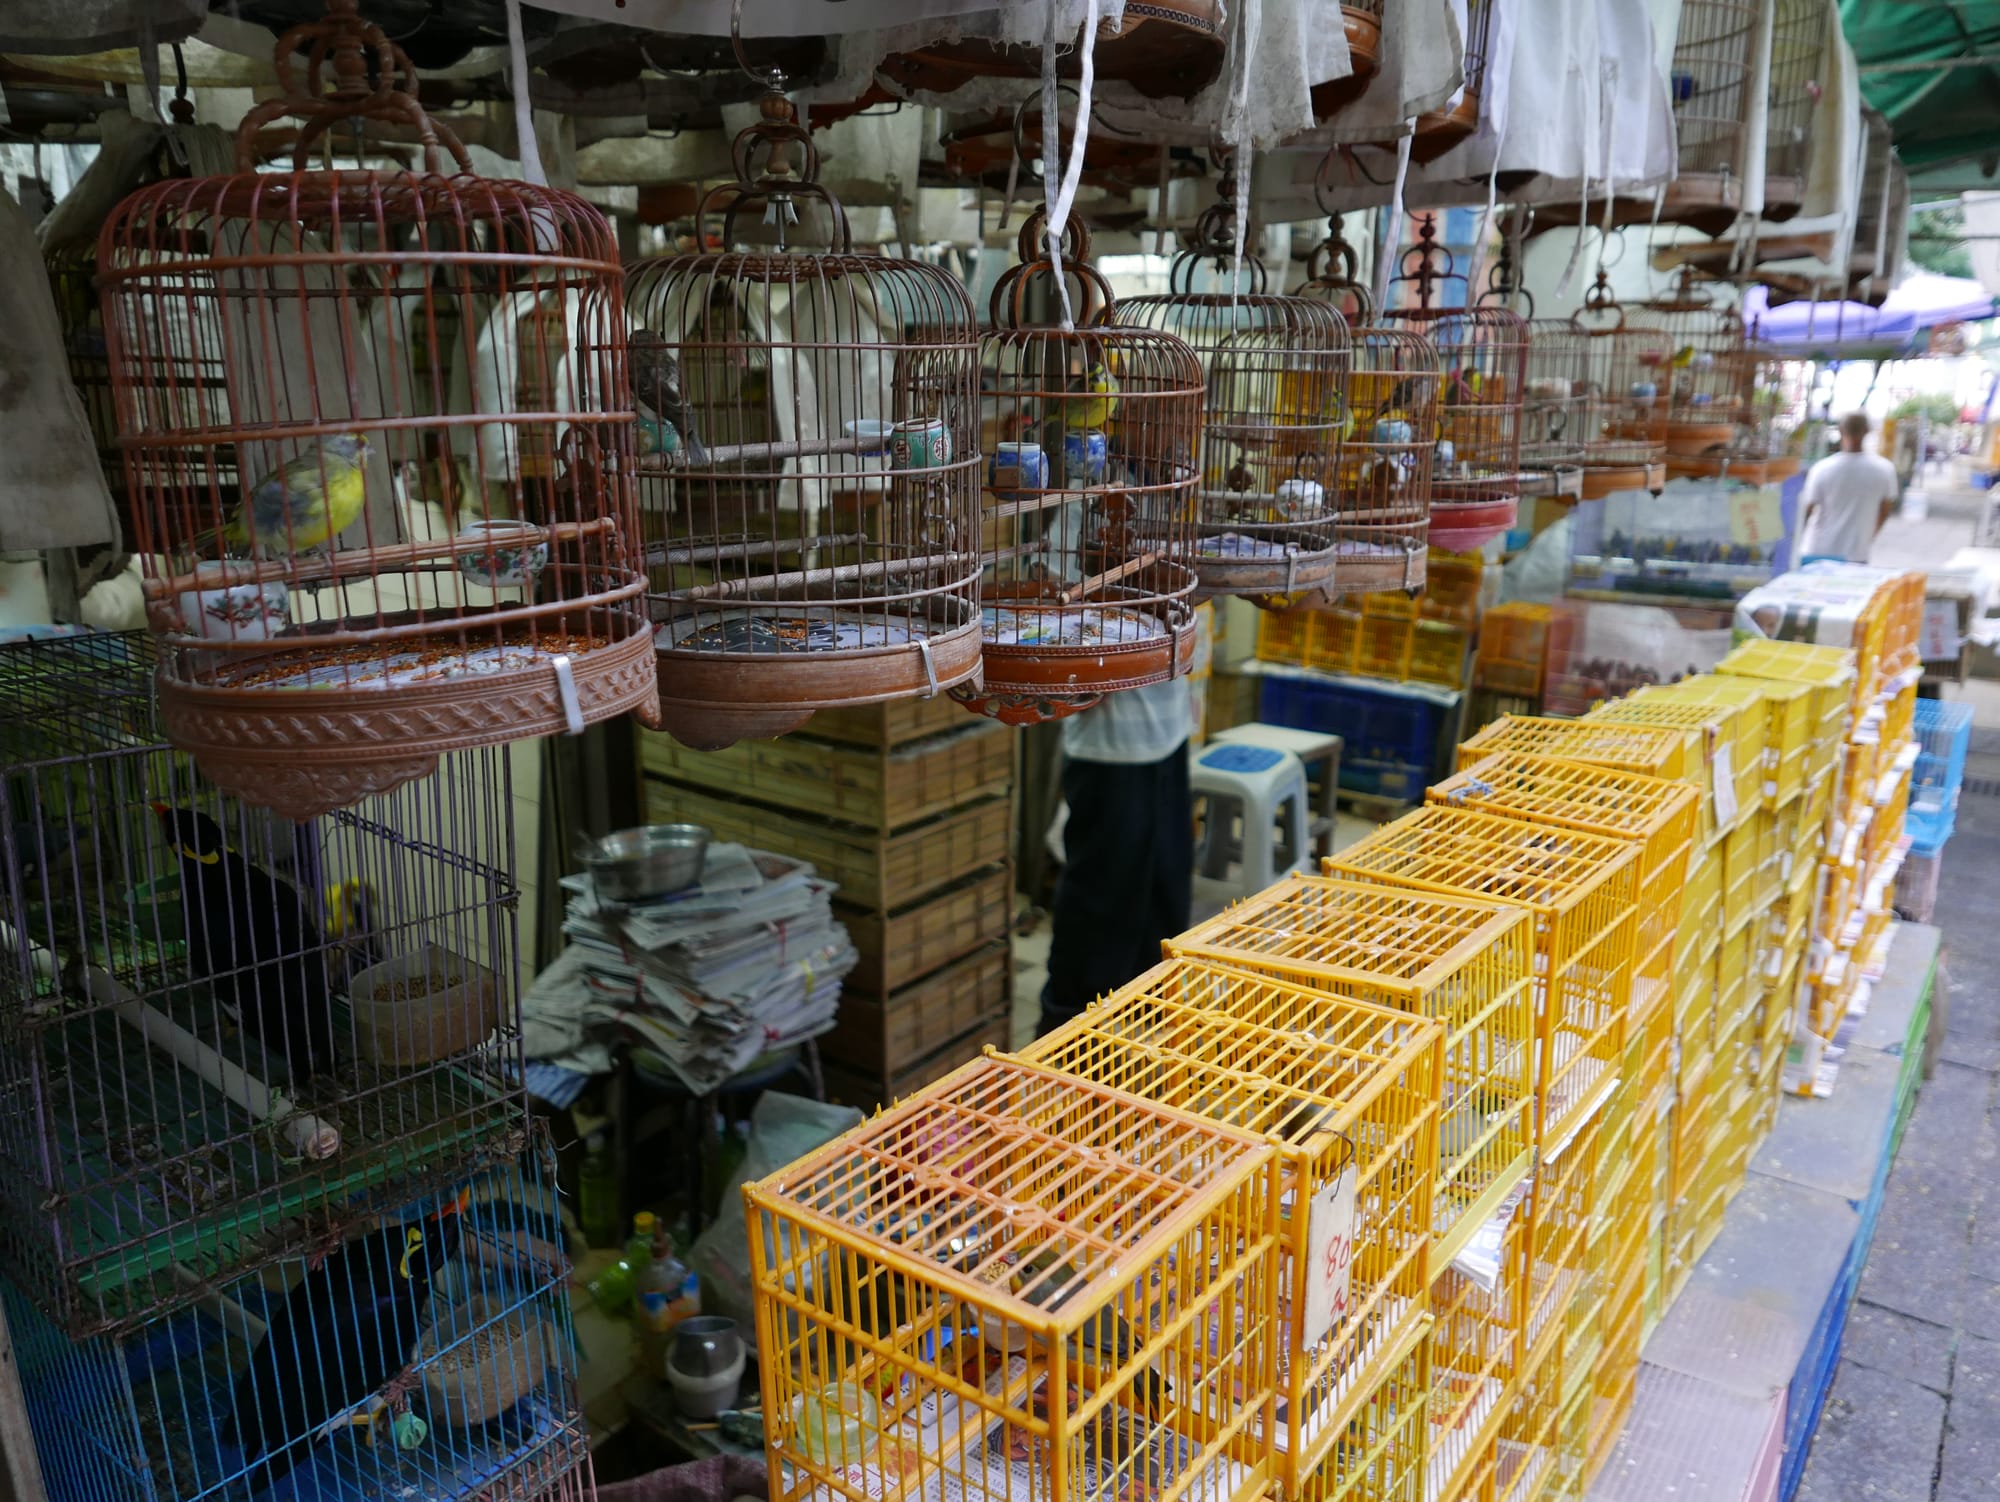
[[[1322,164],[1322,184],[1324,176]],[[1332,490],[1336,590],[1320,590],[1302,604],[1424,588],[1438,448],[1438,350],[1422,328],[1376,322],[1374,298],[1356,280],[1354,248],[1342,238],[1340,216],[1328,220],[1328,238],[1306,258],[1298,296],[1344,312],[1352,326],[1352,368],[1346,438]]]

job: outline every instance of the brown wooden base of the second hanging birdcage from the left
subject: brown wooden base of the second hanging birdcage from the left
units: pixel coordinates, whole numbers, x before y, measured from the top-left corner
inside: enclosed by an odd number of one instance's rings
[[[936,600],[934,606],[950,606]],[[732,620],[796,616],[802,606],[736,608]],[[812,610],[822,626],[838,616]],[[916,650],[916,642],[924,650]],[[928,662],[926,662],[928,658]],[[882,704],[976,684],[980,624],[968,616],[892,646],[798,652],[700,652],[674,648],[662,628],[658,728],[692,750],[722,750],[738,740],[770,740],[798,730],[818,710]]]

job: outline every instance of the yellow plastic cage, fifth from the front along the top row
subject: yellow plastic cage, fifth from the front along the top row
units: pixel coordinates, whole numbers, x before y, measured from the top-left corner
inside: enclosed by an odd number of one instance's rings
[[[1666,998],[1700,794],[1686,782],[1508,752],[1430,788],[1430,802],[1560,824],[1638,846],[1632,1014]]]

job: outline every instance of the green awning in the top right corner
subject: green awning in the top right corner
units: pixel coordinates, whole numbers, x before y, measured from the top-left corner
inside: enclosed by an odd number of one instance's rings
[[[2000,0],[1840,0],[1840,26],[1862,96],[1888,116],[1912,192],[1994,186]]]

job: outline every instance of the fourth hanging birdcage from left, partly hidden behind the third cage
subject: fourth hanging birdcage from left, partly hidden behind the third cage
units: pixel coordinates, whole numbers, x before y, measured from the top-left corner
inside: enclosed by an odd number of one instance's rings
[[[1218,172],[1222,202],[1174,258],[1170,290],[1126,298],[1112,322],[1186,340],[1208,380],[1190,556],[1198,596],[1280,604],[1336,588],[1328,496],[1340,472],[1348,324],[1324,300],[1266,292],[1264,262],[1248,252],[1248,290],[1194,290],[1204,260],[1224,274],[1232,264],[1234,174],[1226,160]]]

